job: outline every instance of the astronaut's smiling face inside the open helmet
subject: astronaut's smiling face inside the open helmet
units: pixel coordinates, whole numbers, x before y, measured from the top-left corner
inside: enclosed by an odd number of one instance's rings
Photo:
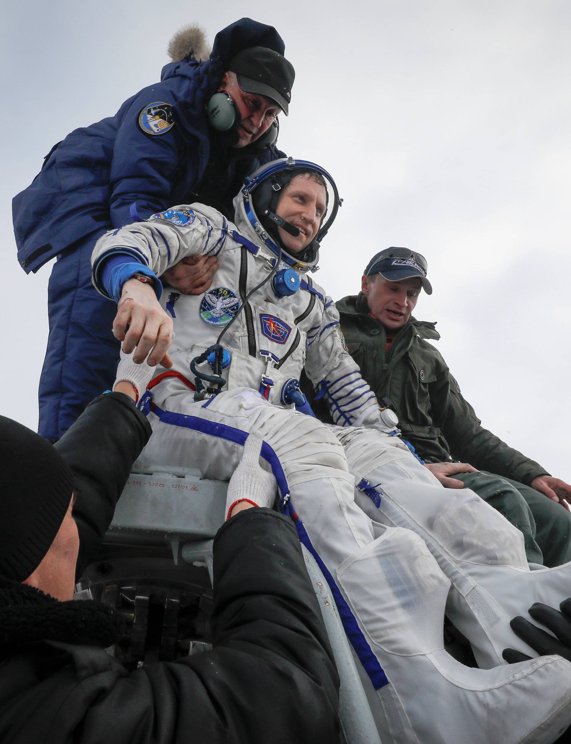
[[[299,228],[296,237],[278,228],[281,244],[288,253],[296,254],[309,246],[319,231],[326,208],[325,186],[310,173],[294,176],[284,187],[275,214]]]

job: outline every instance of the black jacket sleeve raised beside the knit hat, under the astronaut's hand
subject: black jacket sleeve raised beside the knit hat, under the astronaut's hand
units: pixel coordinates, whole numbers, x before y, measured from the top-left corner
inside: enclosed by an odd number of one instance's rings
[[[74,474],[77,577],[97,554],[131,466],[150,434],[149,422],[127,395],[106,393],[89,403],[54,445]]]

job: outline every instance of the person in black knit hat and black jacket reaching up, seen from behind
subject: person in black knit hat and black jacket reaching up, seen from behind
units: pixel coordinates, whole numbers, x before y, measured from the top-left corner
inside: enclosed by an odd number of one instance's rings
[[[0,417],[0,741],[338,740],[339,679],[295,527],[258,506],[275,496],[261,440],[214,539],[213,650],[127,673],[105,650],[115,609],[71,600],[150,436],[134,400],[118,382],[55,446]]]

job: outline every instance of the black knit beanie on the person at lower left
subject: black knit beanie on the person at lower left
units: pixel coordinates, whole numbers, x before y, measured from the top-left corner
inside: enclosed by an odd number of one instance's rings
[[[0,416],[0,577],[24,581],[66,516],[73,476],[39,434]]]

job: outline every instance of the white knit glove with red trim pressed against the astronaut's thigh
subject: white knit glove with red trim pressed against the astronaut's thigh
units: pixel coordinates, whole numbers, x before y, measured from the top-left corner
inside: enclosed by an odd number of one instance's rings
[[[275,499],[276,483],[271,472],[260,465],[260,450],[264,440],[260,434],[249,434],[244,444],[242,459],[230,478],[226,495],[226,519],[240,501],[255,507],[271,507]]]

